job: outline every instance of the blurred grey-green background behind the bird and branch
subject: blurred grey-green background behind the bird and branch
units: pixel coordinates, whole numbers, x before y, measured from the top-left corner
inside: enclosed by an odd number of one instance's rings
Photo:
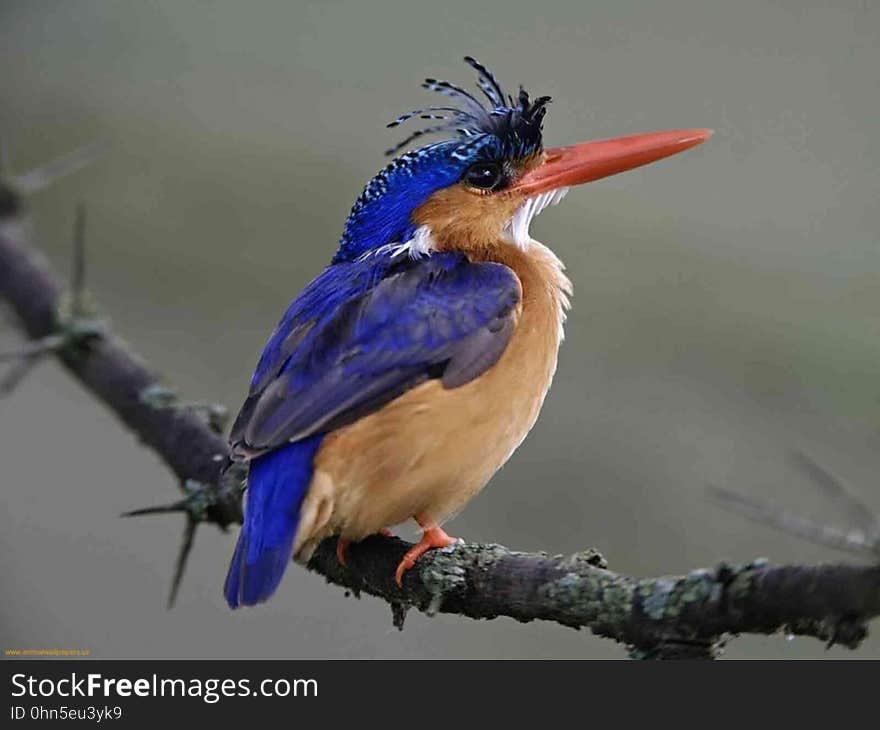
[[[840,522],[804,448],[877,509],[880,10],[770,2],[0,3],[0,129],[19,170],[110,152],[32,201],[67,268],[88,204],[90,285],[189,397],[237,407],[290,298],[431,97],[503,82],[554,97],[548,144],[709,126],[710,143],[572,191],[532,232],[575,283],[559,372],[509,465],[451,525],[526,550],[600,548],[638,575],[720,559],[837,559],[719,510],[721,485]],[[16,342],[8,331],[0,345]],[[238,613],[234,534],[200,531],[164,608],[181,521],[168,473],[44,364],[0,403],[0,644],[99,657],[620,657],[548,624],[412,615],[292,569]],[[405,531],[407,534],[409,531]],[[731,657],[849,656],[781,636]],[[880,657],[872,639],[861,656]]]

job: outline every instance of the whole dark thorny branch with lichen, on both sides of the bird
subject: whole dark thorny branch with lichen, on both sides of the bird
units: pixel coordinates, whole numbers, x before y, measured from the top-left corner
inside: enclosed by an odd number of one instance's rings
[[[32,340],[54,338],[52,348],[31,346],[23,357],[37,350],[57,356],[177,477],[183,500],[135,511],[187,513],[173,597],[195,525],[225,528],[241,521],[243,472],[224,472],[226,443],[218,421],[201,413],[203,404],[179,400],[105,323],[83,313],[81,291],[71,316],[58,278],[27,241],[21,210],[19,196],[0,185],[0,298]],[[78,220],[81,252],[82,214]],[[77,257],[74,281],[81,289]],[[551,557],[500,545],[457,545],[427,554],[398,587],[394,568],[409,547],[397,538],[371,537],[352,546],[344,567],[330,539],[308,567],[331,583],[388,602],[399,627],[409,607],[470,618],[542,619],[589,628],[639,658],[713,658],[729,635],[780,630],[855,648],[867,633],[865,622],[880,615],[878,565],[773,567],[756,561],[639,579],[608,570],[595,551]]]

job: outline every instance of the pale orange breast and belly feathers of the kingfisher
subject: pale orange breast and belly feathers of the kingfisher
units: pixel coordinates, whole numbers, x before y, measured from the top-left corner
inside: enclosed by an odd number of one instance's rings
[[[556,370],[571,283],[540,243],[499,242],[481,252],[510,267],[522,288],[507,349],[463,386],[428,381],[328,434],[301,511],[297,559],[307,560],[330,535],[360,540],[415,515],[442,524],[535,424]]]

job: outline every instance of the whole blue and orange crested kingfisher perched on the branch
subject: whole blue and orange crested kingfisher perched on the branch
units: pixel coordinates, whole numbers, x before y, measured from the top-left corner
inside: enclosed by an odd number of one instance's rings
[[[345,563],[352,542],[415,520],[398,584],[454,545],[444,523],[529,433],[557,366],[572,285],[530,223],[572,186],[711,134],[545,148],[550,97],[508,94],[464,60],[477,88],[428,78],[443,99],[388,124],[425,126],[387,151],[259,358],[229,437],[230,460],[249,465],[231,608],[269,599],[328,537]],[[426,135],[441,139],[401,152]]]

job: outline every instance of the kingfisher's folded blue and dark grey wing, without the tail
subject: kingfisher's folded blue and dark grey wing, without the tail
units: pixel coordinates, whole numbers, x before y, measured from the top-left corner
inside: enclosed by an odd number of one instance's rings
[[[233,427],[248,458],[326,433],[430,378],[457,387],[491,367],[515,327],[519,280],[461,254],[335,264],[290,305]]]

